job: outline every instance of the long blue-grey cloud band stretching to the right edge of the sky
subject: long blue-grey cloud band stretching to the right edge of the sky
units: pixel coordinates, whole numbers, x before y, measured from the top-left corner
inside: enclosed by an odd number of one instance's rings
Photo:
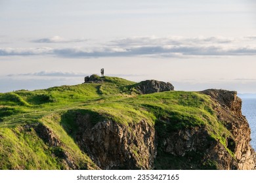
[[[110,48],[60,48],[53,54],[67,58],[102,58],[102,57],[189,57],[189,56],[249,56],[256,55],[256,46],[217,46],[217,45],[139,45],[115,46]]]

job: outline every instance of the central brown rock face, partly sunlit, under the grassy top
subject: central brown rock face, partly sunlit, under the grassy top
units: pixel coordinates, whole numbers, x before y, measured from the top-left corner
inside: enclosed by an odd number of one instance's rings
[[[92,125],[88,116],[78,116],[79,146],[101,169],[153,169],[156,156],[154,127],[117,124],[111,120]]]

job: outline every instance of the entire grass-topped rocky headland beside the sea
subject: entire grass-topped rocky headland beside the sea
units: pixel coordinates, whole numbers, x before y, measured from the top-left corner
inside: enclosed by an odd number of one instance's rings
[[[236,92],[173,89],[92,75],[77,86],[0,94],[0,167],[256,169]]]

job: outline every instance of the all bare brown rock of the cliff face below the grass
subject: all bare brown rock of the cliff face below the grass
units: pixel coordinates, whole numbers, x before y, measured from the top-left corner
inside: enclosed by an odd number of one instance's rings
[[[226,90],[202,93],[210,95],[218,120],[231,133],[224,137],[226,144],[211,138],[205,126],[163,135],[161,127],[144,120],[129,125],[112,120],[92,124],[88,115],[78,115],[75,120],[77,142],[101,169],[255,169],[241,99]]]

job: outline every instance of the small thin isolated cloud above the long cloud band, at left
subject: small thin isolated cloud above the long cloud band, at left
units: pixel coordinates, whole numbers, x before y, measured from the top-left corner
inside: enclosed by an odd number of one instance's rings
[[[68,43],[68,42],[84,42],[88,41],[88,39],[80,38],[80,39],[64,39],[59,36],[54,36],[50,38],[42,38],[42,39],[35,39],[32,42],[43,42],[43,43]]]

